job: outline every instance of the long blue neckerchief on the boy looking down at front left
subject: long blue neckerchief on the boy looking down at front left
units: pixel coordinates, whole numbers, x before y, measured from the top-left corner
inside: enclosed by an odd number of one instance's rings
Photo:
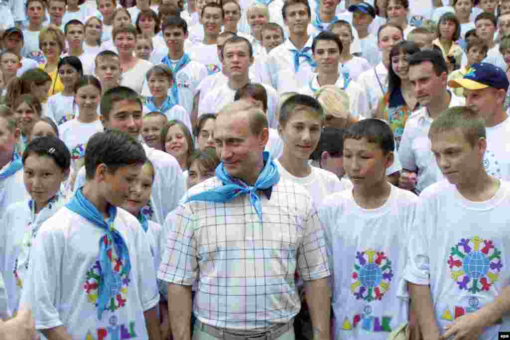
[[[131,260],[129,250],[122,235],[113,227],[113,222],[117,216],[117,207],[110,205],[108,214],[110,218],[105,221],[103,214],[83,196],[82,188],[78,189],[76,194],[65,205],[70,211],[85,217],[89,222],[103,229],[106,234],[99,239],[99,265],[101,267],[101,277],[99,278],[99,296],[97,298],[97,318],[101,320],[103,311],[111,299],[120,294],[122,280],[120,275],[129,276],[131,271]],[[117,257],[122,263],[122,272],[117,273],[113,270],[112,250],[115,250]]]

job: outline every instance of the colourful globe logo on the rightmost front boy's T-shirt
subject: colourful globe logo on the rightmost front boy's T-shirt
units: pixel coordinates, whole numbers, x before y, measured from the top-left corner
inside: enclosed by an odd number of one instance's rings
[[[482,240],[478,236],[461,239],[450,250],[447,263],[452,279],[461,290],[472,294],[489,291],[498,280],[503,268],[501,251],[491,240]]]

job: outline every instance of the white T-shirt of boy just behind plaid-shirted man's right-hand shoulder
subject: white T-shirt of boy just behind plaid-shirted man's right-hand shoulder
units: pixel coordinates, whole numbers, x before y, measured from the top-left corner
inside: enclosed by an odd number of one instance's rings
[[[316,207],[321,206],[327,196],[343,189],[340,179],[333,172],[311,166],[310,175],[296,177],[288,172],[277,159],[274,160],[274,163],[278,166],[281,178],[293,181],[308,190]]]

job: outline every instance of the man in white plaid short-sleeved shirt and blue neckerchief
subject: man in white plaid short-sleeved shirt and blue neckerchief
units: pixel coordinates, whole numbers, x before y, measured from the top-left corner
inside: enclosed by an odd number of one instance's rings
[[[248,101],[229,104],[217,116],[214,138],[216,176],[194,186],[165,221],[158,276],[168,282],[173,338],[190,340],[193,312],[195,340],[293,340],[301,307],[297,270],[314,337],[330,340],[323,230],[307,190],[280,179],[263,152],[264,113]]]

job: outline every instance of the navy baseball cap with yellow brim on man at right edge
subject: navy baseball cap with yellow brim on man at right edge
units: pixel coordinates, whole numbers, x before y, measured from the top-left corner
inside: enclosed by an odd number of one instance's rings
[[[480,90],[492,87],[508,90],[508,79],[502,68],[491,63],[473,64],[461,79],[448,82],[452,88],[463,87],[468,90]]]

